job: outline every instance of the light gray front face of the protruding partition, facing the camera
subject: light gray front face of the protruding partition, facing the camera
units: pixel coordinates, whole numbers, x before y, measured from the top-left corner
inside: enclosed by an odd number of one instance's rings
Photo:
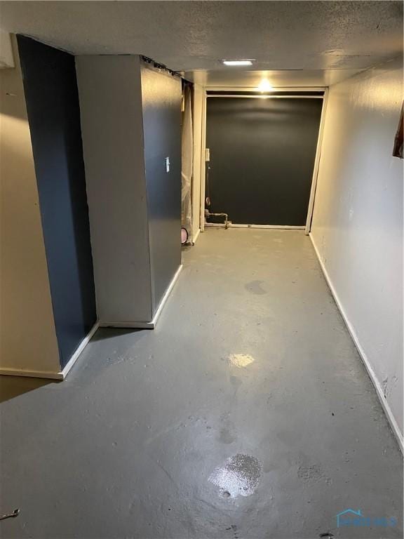
[[[139,56],[77,56],[97,314],[152,320]]]

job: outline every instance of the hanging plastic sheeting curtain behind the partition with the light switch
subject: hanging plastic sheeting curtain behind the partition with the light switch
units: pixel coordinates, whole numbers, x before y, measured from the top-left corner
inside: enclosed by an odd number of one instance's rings
[[[183,90],[182,109],[181,226],[187,229],[189,241],[192,241],[191,193],[194,134],[192,129],[192,89],[187,84],[184,86]]]

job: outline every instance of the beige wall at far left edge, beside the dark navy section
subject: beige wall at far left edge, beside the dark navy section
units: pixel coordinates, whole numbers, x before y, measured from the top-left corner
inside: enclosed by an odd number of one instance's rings
[[[24,88],[14,68],[0,71],[0,372],[60,372]]]

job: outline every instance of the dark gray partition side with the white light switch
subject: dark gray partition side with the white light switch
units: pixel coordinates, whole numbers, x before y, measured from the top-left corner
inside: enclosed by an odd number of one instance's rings
[[[142,107],[155,311],[181,263],[180,79],[142,66]]]

